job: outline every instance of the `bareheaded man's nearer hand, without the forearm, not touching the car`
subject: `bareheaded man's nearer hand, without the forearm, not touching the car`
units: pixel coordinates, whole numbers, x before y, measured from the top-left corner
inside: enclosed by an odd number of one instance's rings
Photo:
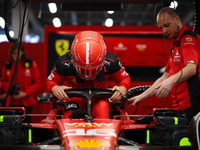
[[[173,86],[173,83],[171,84],[170,79],[171,78],[167,78],[158,85],[158,90],[156,92],[157,98],[166,97],[170,93],[170,90]]]

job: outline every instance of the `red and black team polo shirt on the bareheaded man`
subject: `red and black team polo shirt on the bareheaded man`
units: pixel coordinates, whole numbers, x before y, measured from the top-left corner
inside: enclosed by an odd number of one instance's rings
[[[172,76],[183,69],[187,64],[197,65],[196,75],[187,81],[175,84],[171,91],[173,107],[175,109],[185,109],[191,105],[200,102],[200,84],[199,84],[199,52],[200,41],[198,35],[183,26],[177,38],[172,42],[171,57],[168,60],[165,72]],[[180,107],[179,107],[180,106]]]

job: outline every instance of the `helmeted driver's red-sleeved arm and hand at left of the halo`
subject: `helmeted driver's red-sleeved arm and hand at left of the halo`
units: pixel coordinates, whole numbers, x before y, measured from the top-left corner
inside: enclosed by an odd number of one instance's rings
[[[71,89],[72,87],[68,87],[62,85],[65,81],[65,77],[59,75],[55,70],[51,71],[51,74],[48,76],[46,85],[49,93],[52,93],[59,100],[67,100],[69,97],[65,93],[65,89]]]

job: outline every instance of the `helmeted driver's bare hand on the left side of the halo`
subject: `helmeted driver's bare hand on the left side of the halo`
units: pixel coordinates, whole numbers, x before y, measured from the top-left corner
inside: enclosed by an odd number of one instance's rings
[[[71,88],[72,87],[68,87],[64,85],[62,86],[55,85],[52,88],[52,92],[53,92],[53,95],[56,96],[59,100],[67,100],[69,99],[69,97],[67,96],[64,90],[71,89]]]

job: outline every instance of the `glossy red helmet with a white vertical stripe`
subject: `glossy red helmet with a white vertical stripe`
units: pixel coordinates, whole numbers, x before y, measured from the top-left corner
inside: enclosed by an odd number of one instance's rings
[[[94,79],[102,69],[106,57],[103,36],[94,31],[83,31],[75,36],[71,46],[72,64],[79,76]]]

